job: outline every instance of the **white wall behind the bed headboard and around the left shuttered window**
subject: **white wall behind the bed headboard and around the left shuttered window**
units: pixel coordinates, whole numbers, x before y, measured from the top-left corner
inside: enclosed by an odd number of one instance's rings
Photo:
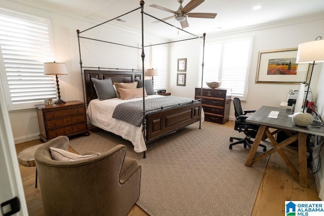
[[[0,1],[0,7],[21,13],[51,19],[54,48],[57,62],[66,64],[68,75],[59,76],[61,99],[64,101],[84,101],[82,75],[79,65],[79,51],[76,29],[83,31],[105,20],[94,20],[67,11],[40,5],[28,6],[12,1]],[[138,12],[140,13],[140,12]],[[141,46],[141,33],[121,29],[113,24],[81,33],[80,36],[91,37],[134,47]],[[145,35],[144,44],[165,42],[162,38]],[[109,67],[141,69],[141,49],[121,47],[94,40],[80,39],[84,67]],[[145,49],[145,67],[150,67],[150,49]],[[39,128],[35,109],[12,111],[9,113],[15,143],[38,139]]]

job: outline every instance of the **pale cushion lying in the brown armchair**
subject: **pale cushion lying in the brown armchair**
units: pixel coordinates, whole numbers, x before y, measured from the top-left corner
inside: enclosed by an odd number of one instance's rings
[[[59,160],[59,161],[83,160],[83,159],[88,159],[100,155],[100,153],[91,154],[91,155],[79,155],[79,154],[74,154],[72,152],[65,151],[63,149],[53,148],[53,147],[50,147],[50,151],[53,160]]]

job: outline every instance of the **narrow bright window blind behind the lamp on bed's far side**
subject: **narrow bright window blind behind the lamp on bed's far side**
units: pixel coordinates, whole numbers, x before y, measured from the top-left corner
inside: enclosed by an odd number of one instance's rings
[[[158,69],[158,76],[153,77],[154,90],[166,89],[167,66],[168,66],[168,47],[152,47],[152,68]]]

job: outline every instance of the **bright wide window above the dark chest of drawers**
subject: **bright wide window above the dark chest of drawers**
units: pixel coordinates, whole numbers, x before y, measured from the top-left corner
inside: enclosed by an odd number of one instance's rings
[[[221,88],[231,89],[232,96],[245,100],[250,69],[253,36],[205,43],[204,80],[221,81]],[[201,86],[201,64],[203,45],[200,46],[199,74],[197,86]]]

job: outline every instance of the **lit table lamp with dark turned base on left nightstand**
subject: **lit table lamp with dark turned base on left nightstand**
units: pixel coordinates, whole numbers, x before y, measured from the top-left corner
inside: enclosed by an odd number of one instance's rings
[[[55,104],[64,104],[65,101],[61,100],[60,87],[59,87],[59,78],[57,75],[66,75],[66,66],[64,63],[58,62],[46,62],[44,63],[44,75],[55,75],[56,77],[56,87],[58,100],[55,101]]]

